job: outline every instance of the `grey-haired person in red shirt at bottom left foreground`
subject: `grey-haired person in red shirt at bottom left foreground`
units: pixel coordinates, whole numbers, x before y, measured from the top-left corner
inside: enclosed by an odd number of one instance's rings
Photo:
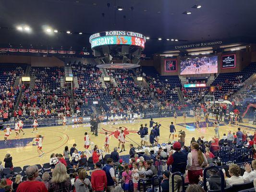
[[[16,192],[48,192],[43,182],[35,180],[38,177],[36,165],[26,168],[27,181],[19,184]]]

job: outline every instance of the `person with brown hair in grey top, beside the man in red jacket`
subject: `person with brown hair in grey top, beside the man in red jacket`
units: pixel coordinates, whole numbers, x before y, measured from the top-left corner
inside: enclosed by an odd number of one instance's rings
[[[89,192],[89,188],[92,188],[90,180],[86,177],[86,169],[82,169],[78,174],[78,179],[74,183],[76,192]]]

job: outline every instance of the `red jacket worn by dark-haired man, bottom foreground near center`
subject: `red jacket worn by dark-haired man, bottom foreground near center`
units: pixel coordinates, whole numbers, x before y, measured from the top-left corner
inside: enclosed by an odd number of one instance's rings
[[[92,189],[93,191],[103,191],[104,187],[107,189],[107,176],[103,170],[95,170],[92,172]]]

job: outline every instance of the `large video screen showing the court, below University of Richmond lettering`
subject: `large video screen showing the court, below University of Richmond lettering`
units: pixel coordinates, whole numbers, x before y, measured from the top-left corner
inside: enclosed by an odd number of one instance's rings
[[[218,72],[218,56],[184,58],[181,60],[181,75]]]

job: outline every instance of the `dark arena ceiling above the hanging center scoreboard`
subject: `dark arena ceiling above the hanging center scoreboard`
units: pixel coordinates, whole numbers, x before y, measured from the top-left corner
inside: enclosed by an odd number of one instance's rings
[[[89,36],[108,30],[149,36],[146,54],[192,42],[256,42],[255,0],[0,0],[0,12],[0,45],[15,47],[90,49]],[[31,33],[17,31],[20,24]],[[43,26],[58,33],[46,34]]]

